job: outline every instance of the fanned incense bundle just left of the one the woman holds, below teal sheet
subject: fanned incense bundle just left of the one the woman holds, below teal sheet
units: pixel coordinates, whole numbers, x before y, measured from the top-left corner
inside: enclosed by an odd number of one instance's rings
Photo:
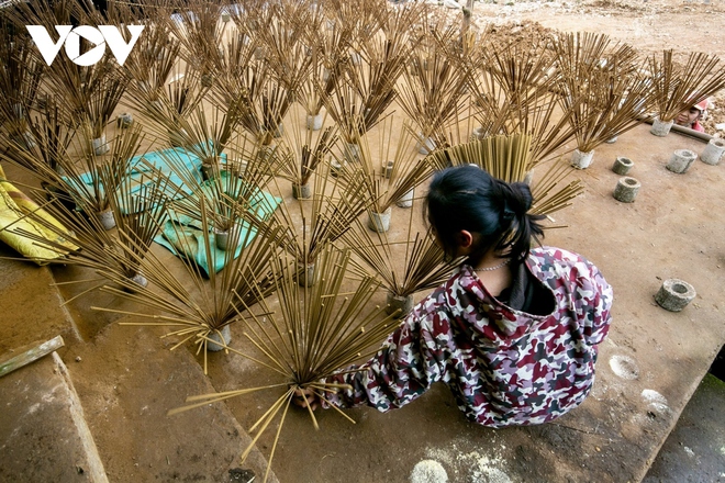
[[[203,198],[200,200],[202,207],[200,229],[202,233],[208,233],[211,226],[205,216]],[[202,236],[201,248],[207,266],[210,267],[209,272],[204,272],[190,257],[181,257],[185,270],[179,277],[178,270],[149,252],[145,257],[143,271],[144,277],[153,283],[154,290],[141,287],[127,292],[110,285],[102,288],[104,292],[144,306],[143,312],[92,308],[122,313],[142,321],[129,322],[124,325],[169,327],[170,332],[165,337],[179,339],[171,350],[187,341],[193,341],[198,347],[197,353],[203,352],[203,367],[207,373],[207,348],[211,335],[220,334],[222,328],[237,322],[247,307],[277,290],[275,285],[277,276],[271,271],[270,260],[279,258],[277,238],[281,236],[282,227],[274,220],[261,221],[255,218],[254,213],[247,213],[249,217],[246,221],[254,229],[234,231],[230,234],[231,245],[243,248],[238,254],[235,250],[224,251],[224,268],[220,272],[214,270],[217,255],[211,246],[210,238]],[[183,228],[179,225],[171,226],[178,231],[176,238],[179,243],[179,251],[196,251],[197,242],[185,236]],[[115,278],[111,280],[121,282]],[[191,289],[187,289],[189,280]],[[214,344],[228,350],[225,342]]]

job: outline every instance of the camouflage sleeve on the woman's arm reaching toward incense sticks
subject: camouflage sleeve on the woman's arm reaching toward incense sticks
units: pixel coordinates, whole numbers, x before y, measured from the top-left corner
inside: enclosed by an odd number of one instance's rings
[[[448,327],[448,318],[440,312],[413,311],[372,359],[327,378],[324,382],[349,384],[352,389],[338,389],[325,397],[337,407],[367,404],[380,412],[410,403],[443,378],[445,344],[438,338],[449,334]]]

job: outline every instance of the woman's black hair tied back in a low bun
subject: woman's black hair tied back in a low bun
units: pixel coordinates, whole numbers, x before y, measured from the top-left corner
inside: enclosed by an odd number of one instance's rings
[[[507,183],[476,165],[446,168],[434,175],[426,198],[428,222],[446,255],[456,251],[456,235],[479,234],[484,252],[494,248],[516,262],[528,256],[532,239],[544,236],[543,215],[529,214],[528,184]]]

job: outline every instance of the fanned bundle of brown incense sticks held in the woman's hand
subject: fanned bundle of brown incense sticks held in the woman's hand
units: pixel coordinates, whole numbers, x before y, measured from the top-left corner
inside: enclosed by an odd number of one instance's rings
[[[327,245],[319,258],[320,283],[311,289],[297,283],[293,259],[276,259],[272,270],[276,292],[279,295],[279,310],[272,311],[260,292],[259,307],[243,315],[244,336],[257,349],[257,353],[234,352],[275,372],[279,383],[191,396],[187,398],[189,405],[169,412],[171,415],[238,395],[286,389],[249,428],[249,431],[257,431],[257,435],[242,454],[244,461],[269,425],[279,418],[279,428],[263,481],[266,481],[269,474],[279,435],[295,391],[311,390],[319,397],[326,398],[326,394],[334,392],[338,385],[321,380],[339,368],[369,357],[391,330],[394,315],[386,317],[384,308],[369,308],[368,305],[378,287],[377,282],[366,278],[353,292],[342,292],[349,258],[349,251],[341,251]],[[342,411],[338,409],[338,413],[352,420]],[[316,428],[317,420],[311,409],[310,417]]]

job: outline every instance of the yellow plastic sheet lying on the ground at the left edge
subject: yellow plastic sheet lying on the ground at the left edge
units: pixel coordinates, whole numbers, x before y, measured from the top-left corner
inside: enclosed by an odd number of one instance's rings
[[[44,226],[48,224],[54,228]],[[41,242],[29,238],[23,233],[33,234],[57,247],[48,244],[43,246]],[[5,179],[5,173],[0,167],[0,240],[30,258],[38,265],[48,263],[63,257],[67,251],[76,247],[66,240],[60,234],[67,229],[56,218],[51,216],[37,203],[27,198],[25,193],[15,188]],[[67,248],[67,250],[64,250]]]

